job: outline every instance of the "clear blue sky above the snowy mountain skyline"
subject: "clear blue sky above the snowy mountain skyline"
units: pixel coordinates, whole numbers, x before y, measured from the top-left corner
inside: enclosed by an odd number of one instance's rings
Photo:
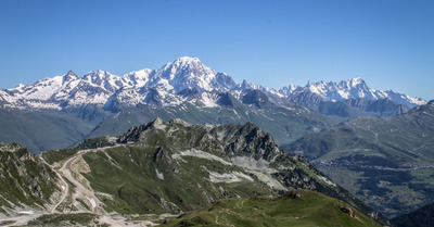
[[[271,88],[362,77],[434,99],[434,1],[0,1],[0,88],[197,56]]]

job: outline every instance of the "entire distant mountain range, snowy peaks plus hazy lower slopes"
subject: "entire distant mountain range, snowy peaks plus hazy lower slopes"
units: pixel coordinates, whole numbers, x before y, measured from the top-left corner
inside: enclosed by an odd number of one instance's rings
[[[421,103],[370,89],[360,78],[280,90],[246,80],[237,84],[199,59],[183,56],[159,70],[120,77],[104,71],[79,77],[69,71],[0,90],[0,141],[20,142],[38,153],[77,146],[86,138],[117,136],[162,117],[197,124],[253,122],[285,146],[348,117],[395,116]]]

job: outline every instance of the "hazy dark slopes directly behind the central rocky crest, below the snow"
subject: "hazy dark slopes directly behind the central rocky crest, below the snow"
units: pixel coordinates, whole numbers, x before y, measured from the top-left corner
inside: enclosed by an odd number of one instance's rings
[[[252,91],[261,93],[260,91]],[[214,93],[214,103],[218,108],[207,108],[196,104],[202,100],[210,102],[210,99],[194,99],[178,106],[156,108],[141,105],[133,109],[124,109],[118,113],[102,121],[89,137],[105,135],[120,135],[133,125],[143,124],[155,117],[165,121],[170,118],[182,118],[192,124],[245,124],[252,122],[270,133],[278,144],[288,144],[295,139],[320,130],[327,126],[336,124],[342,118],[329,117],[314,111],[309,111],[296,103],[273,103],[271,98],[264,103],[250,100],[246,102],[244,96],[242,103],[230,93]],[[265,96],[264,93],[258,96]],[[265,96],[266,97],[266,96]],[[271,100],[271,101],[270,101]],[[259,106],[258,106],[259,105]],[[266,105],[260,108],[260,105]]]

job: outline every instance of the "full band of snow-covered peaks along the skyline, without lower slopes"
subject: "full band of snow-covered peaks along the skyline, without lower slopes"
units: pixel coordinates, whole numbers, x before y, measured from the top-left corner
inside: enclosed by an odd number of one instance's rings
[[[197,100],[202,106],[218,106],[213,93],[229,92],[241,99],[246,90],[260,90],[267,96],[302,100],[345,101],[390,99],[397,104],[413,108],[425,103],[392,90],[370,89],[361,78],[341,83],[308,83],[305,87],[285,86],[279,90],[243,81],[237,84],[229,75],[205,66],[197,58],[183,56],[159,70],[141,70],[116,76],[106,71],[93,71],[78,77],[69,71],[62,76],[46,78],[34,85],[18,85],[0,91],[4,108],[63,110],[85,104],[97,104],[106,110],[138,104],[179,105]],[[315,96],[312,98],[311,96]],[[303,98],[304,97],[304,98]]]

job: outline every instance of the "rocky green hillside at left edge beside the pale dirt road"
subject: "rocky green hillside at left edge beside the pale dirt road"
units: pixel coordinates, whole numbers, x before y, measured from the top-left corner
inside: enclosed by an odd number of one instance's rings
[[[61,191],[58,175],[20,144],[0,143],[0,215],[49,209]]]

